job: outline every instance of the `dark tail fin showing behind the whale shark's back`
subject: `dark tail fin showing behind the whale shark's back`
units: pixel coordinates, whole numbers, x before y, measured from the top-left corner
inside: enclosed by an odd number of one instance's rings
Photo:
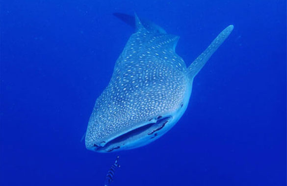
[[[123,13],[113,13],[113,15],[117,18],[119,18],[120,20],[122,20],[123,22],[129,24],[131,27],[136,28],[135,25],[135,17],[134,16],[130,16],[128,14],[123,14]],[[161,34],[166,34],[166,31],[161,28],[160,26],[158,26],[155,23],[152,23],[150,21],[144,20],[144,19],[139,19],[140,22],[142,23],[142,25],[149,31],[149,32],[156,32],[156,33],[161,33]]]

